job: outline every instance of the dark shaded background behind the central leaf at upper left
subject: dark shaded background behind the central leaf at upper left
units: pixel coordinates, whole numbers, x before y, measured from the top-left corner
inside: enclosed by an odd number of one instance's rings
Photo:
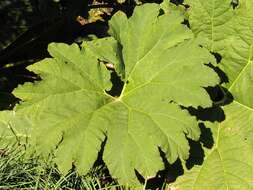
[[[169,0],[168,0],[169,1]],[[12,90],[18,84],[37,80],[26,66],[48,55],[50,42],[71,44],[78,38],[95,34],[107,35],[107,21],[81,25],[76,18],[88,17],[88,11],[97,7],[111,8],[112,14],[118,10],[128,16],[137,5],[135,0],[118,3],[116,0],[1,0],[0,1],[0,110],[11,109],[18,101]],[[139,3],[161,3],[162,0],[142,0]],[[182,0],[171,0],[175,4]]]

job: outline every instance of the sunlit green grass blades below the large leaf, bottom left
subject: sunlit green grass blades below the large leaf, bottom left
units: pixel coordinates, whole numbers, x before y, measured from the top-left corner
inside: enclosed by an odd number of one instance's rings
[[[1,190],[106,190],[123,189],[108,175],[105,166],[94,167],[87,175],[79,176],[71,171],[63,176],[50,161],[24,156],[24,150],[16,147],[2,150],[0,155]]]

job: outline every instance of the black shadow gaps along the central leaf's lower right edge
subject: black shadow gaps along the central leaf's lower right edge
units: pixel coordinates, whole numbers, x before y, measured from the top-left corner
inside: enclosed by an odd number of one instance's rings
[[[205,121],[208,122],[222,122],[225,120],[225,113],[222,106],[230,104],[233,101],[232,94],[221,86],[209,87],[207,89],[211,99],[213,100],[213,106],[210,108],[193,108],[182,107],[182,109],[188,110],[190,115],[197,118],[199,121],[199,128],[201,135],[198,141],[193,141],[187,138],[190,150],[189,158],[186,160],[185,166],[188,170],[195,165],[202,165],[205,158],[204,148],[211,149],[214,145],[213,134],[210,128],[206,127]],[[165,153],[159,148],[160,155],[165,165],[165,169],[159,171],[156,176],[147,181],[146,189],[162,189],[164,182],[167,184],[176,181],[176,179],[184,174],[183,163],[180,159],[177,159],[174,163],[169,163]],[[138,175],[138,179],[141,183],[145,180],[141,175]]]

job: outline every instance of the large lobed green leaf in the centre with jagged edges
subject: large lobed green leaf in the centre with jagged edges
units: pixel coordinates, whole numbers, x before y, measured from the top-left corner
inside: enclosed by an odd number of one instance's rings
[[[15,108],[33,123],[31,143],[39,154],[56,148],[56,163],[67,172],[74,164],[87,172],[107,137],[103,159],[124,185],[136,185],[163,168],[160,147],[170,163],[188,158],[186,139],[198,140],[194,117],[180,105],[212,105],[204,87],[219,82],[205,64],[207,50],[182,25],[183,17],[162,15],[160,6],[137,7],[110,21],[112,37],[84,43],[49,45],[53,58],[28,69],[41,81],[14,91],[23,100]],[[105,51],[105,47],[106,50]],[[97,60],[115,64],[124,87],[119,97],[107,93],[110,72]]]

